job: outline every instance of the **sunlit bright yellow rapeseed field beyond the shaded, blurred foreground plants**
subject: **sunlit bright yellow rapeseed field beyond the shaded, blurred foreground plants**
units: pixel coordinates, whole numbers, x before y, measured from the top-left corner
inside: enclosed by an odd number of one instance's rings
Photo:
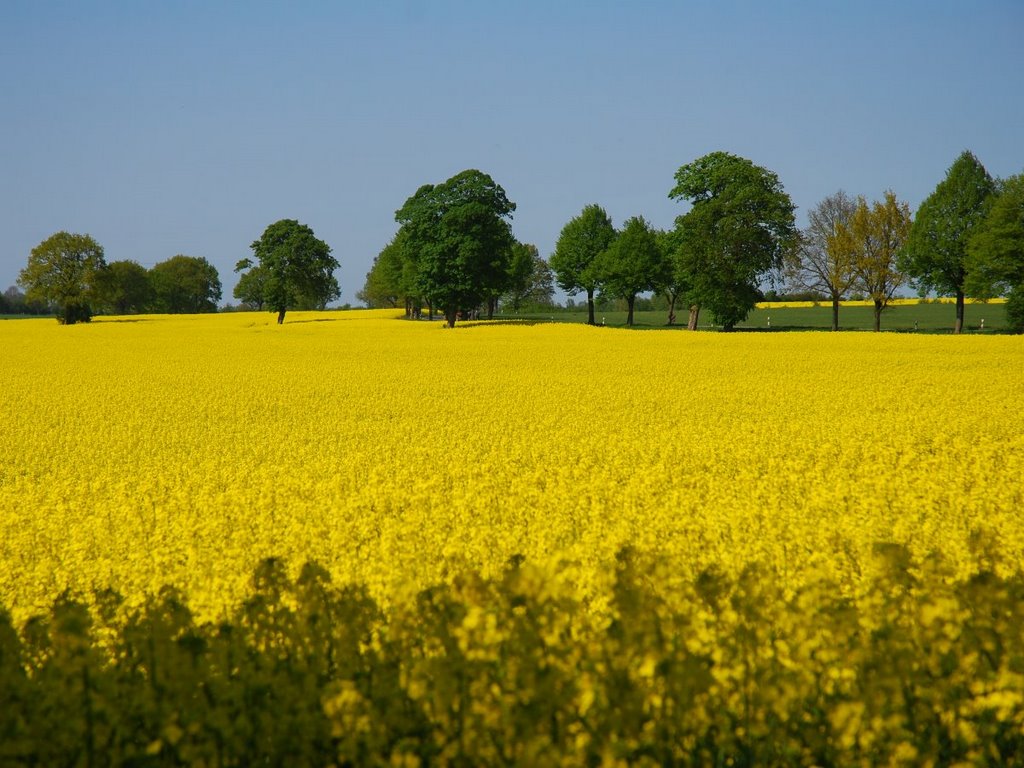
[[[624,547],[851,594],[878,542],[1024,563],[1020,337],[273,319],[0,323],[0,604],[212,617],[269,555],[385,605],[522,555],[596,609]]]

